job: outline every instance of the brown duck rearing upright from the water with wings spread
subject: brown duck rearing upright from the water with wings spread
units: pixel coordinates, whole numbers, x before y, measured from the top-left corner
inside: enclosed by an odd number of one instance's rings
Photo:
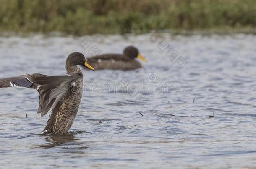
[[[43,117],[51,111],[42,131],[47,134],[67,134],[72,126],[83,93],[83,73],[79,65],[94,70],[80,52],[73,52],[66,59],[66,75],[48,76],[39,73],[0,79],[0,88],[23,87],[39,93],[37,113]]]

